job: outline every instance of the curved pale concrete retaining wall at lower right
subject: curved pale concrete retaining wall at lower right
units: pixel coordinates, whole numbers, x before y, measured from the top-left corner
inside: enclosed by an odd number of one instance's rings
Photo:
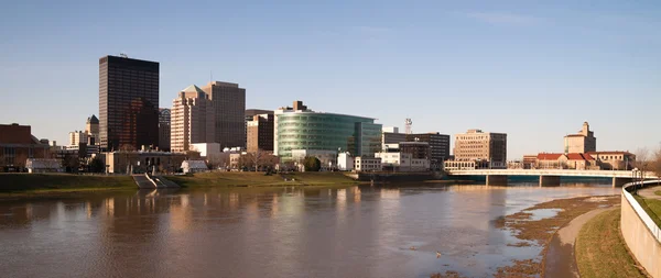
[[[620,219],[622,237],[648,274],[661,278],[661,230],[627,191],[631,185],[627,184],[622,188]]]

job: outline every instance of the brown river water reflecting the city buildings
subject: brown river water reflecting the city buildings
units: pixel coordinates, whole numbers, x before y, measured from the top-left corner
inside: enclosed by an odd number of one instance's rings
[[[609,181],[204,189],[0,201],[0,277],[490,277],[498,218]],[[411,249],[414,247],[414,249]],[[436,252],[442,256],[437,258]]]

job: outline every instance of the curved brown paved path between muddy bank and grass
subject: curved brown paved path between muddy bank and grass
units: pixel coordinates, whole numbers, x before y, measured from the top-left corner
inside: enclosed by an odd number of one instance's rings
[[[581,227],[597,214],[611,210],[613,208],[596,209],[573,219],[567,225],[561,227],[553,235],[546,249],[546,264],[544,265],[544,277],[581,277],[576,266],[574,244]]]

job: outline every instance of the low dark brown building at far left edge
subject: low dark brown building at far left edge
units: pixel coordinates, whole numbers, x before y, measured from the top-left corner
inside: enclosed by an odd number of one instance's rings
[[[0,171],[22,171],[28,158],[48,158],[50,147],[32,135],[30,125],[0,124]]]

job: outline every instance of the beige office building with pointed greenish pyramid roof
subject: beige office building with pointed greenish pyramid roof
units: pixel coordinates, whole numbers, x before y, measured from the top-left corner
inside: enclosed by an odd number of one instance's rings
[[[191,144],[215,142],[216,110],[207,93],[195,85],[182,90],[172,101],[172,152],[191,151]]]

